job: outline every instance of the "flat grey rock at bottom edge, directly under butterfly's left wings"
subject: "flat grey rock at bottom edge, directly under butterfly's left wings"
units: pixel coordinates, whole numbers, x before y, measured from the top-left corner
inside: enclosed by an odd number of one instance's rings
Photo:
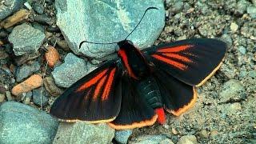
[[[106,124],[89,124],[87,122],[60,123],[54,138],[54,144],[110,143],[114,130]]]

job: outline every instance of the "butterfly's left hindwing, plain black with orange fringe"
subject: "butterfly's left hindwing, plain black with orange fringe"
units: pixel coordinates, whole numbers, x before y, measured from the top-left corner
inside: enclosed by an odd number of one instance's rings
[[[109,123],[116,130],[151,126],[158,118],[158,115],[138,94],[134,86],[133,81],[128,76],[122,78],[121,110],[118,117]]]

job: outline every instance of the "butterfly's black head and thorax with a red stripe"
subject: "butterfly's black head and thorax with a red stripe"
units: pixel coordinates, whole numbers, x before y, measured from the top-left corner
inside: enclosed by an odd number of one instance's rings
[[[131,78],[141,79],[150,74],[150,65],[140,50],[130,41],[118,42],[118,57]]]

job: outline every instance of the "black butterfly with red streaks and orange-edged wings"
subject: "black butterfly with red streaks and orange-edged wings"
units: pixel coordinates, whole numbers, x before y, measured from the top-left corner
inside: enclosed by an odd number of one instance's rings
[[[66,89],[50,114],[65,122],[108,122],[116,130],[163,124],[165,110],[179,116],[194,106],[196,87],[219,69],[227,49],[218,39],[192,38],[138,50],[128,36],[112,42],[118,57]]]

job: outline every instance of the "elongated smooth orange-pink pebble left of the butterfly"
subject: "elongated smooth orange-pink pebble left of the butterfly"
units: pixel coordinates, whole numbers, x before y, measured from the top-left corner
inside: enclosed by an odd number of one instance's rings
[[[26,81],[14,86],[11,93],[17,96],[18,94],[34,90],[39,86],[42,86],[42,77],[38,74],[34,74],[30,78],[27,78]]]

